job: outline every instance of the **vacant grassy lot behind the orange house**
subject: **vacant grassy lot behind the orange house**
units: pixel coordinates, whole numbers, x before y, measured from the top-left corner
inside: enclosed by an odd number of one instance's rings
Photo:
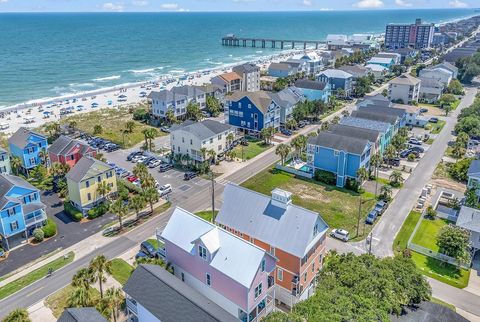
[[[318,212],[330,228],[343,228],[350,232],[350,236],[357,237],[358,193],[313,180],[298,179],[293,174],[272,169],[260,172],[242,186],[267,196],[275,188],[290,191],[293,193],[294,204]],[[364,193],[363,198],[367,201],[362,204],[360,236],[364,229],[366,235],[372,228],[364,225],[364,220],[376,202],[370,193]]]

